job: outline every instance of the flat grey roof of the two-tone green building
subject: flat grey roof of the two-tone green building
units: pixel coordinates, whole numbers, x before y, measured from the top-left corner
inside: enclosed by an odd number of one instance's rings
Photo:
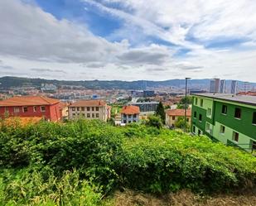
[[[256,106],[256,96],[235,95],[230,93],[195,93],[193,95]]]

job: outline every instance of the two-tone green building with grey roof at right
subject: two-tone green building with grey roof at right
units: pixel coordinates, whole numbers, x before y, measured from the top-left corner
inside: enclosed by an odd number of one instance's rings
[[[246,151],[256,150],[256,97],[194,94],[191,132]]]

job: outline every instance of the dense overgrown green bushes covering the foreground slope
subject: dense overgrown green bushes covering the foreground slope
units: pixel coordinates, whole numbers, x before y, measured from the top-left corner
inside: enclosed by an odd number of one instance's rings
[[[99,205],[118,188],[162,194],[255,189],[254,156],[207,137],[131,124],[2,123],[0,204]]]

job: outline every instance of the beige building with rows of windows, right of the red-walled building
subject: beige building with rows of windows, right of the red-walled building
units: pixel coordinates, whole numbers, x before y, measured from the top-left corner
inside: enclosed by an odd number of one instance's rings
[[[100,119],[108,120],[110,111],[107,103],[103,100],[80,100],[69,106],[69,118]]]

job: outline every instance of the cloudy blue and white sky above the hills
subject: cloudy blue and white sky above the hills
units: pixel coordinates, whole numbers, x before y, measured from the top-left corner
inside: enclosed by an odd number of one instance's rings
[[[256,82],[255,0],[0,0],[0,76]]]

